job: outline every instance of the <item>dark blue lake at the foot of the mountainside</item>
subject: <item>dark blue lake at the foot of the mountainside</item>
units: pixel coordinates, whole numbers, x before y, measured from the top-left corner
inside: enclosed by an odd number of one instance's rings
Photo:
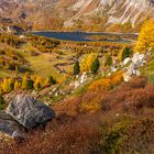
[[[86,33],[86,32],[32,32],[33,34],[45,36],[45,37],[52,37],[57,40],[64,40],[64,41],[73,41],[73,42],[96,42],[96,40],[90,38],[92,35],[113,35],[113,36],[122,36],[122,35],[130,35],[130,36],[136,36],[138,34],[121,34],[121,33]],[[131,43],[132,41],[129,40],[99,40],[102,42],[123,42],[123,43]]]

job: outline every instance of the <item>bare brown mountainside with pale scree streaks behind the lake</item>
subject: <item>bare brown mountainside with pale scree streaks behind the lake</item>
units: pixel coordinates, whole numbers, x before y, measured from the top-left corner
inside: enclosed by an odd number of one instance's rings
[[[24,14],[26,21],[44,29],[73,26],[78,20],[87,24],[94,18],[102,24],[130,22],[134,26],[153,13],[154,0],[0,0],[1,16]]]

